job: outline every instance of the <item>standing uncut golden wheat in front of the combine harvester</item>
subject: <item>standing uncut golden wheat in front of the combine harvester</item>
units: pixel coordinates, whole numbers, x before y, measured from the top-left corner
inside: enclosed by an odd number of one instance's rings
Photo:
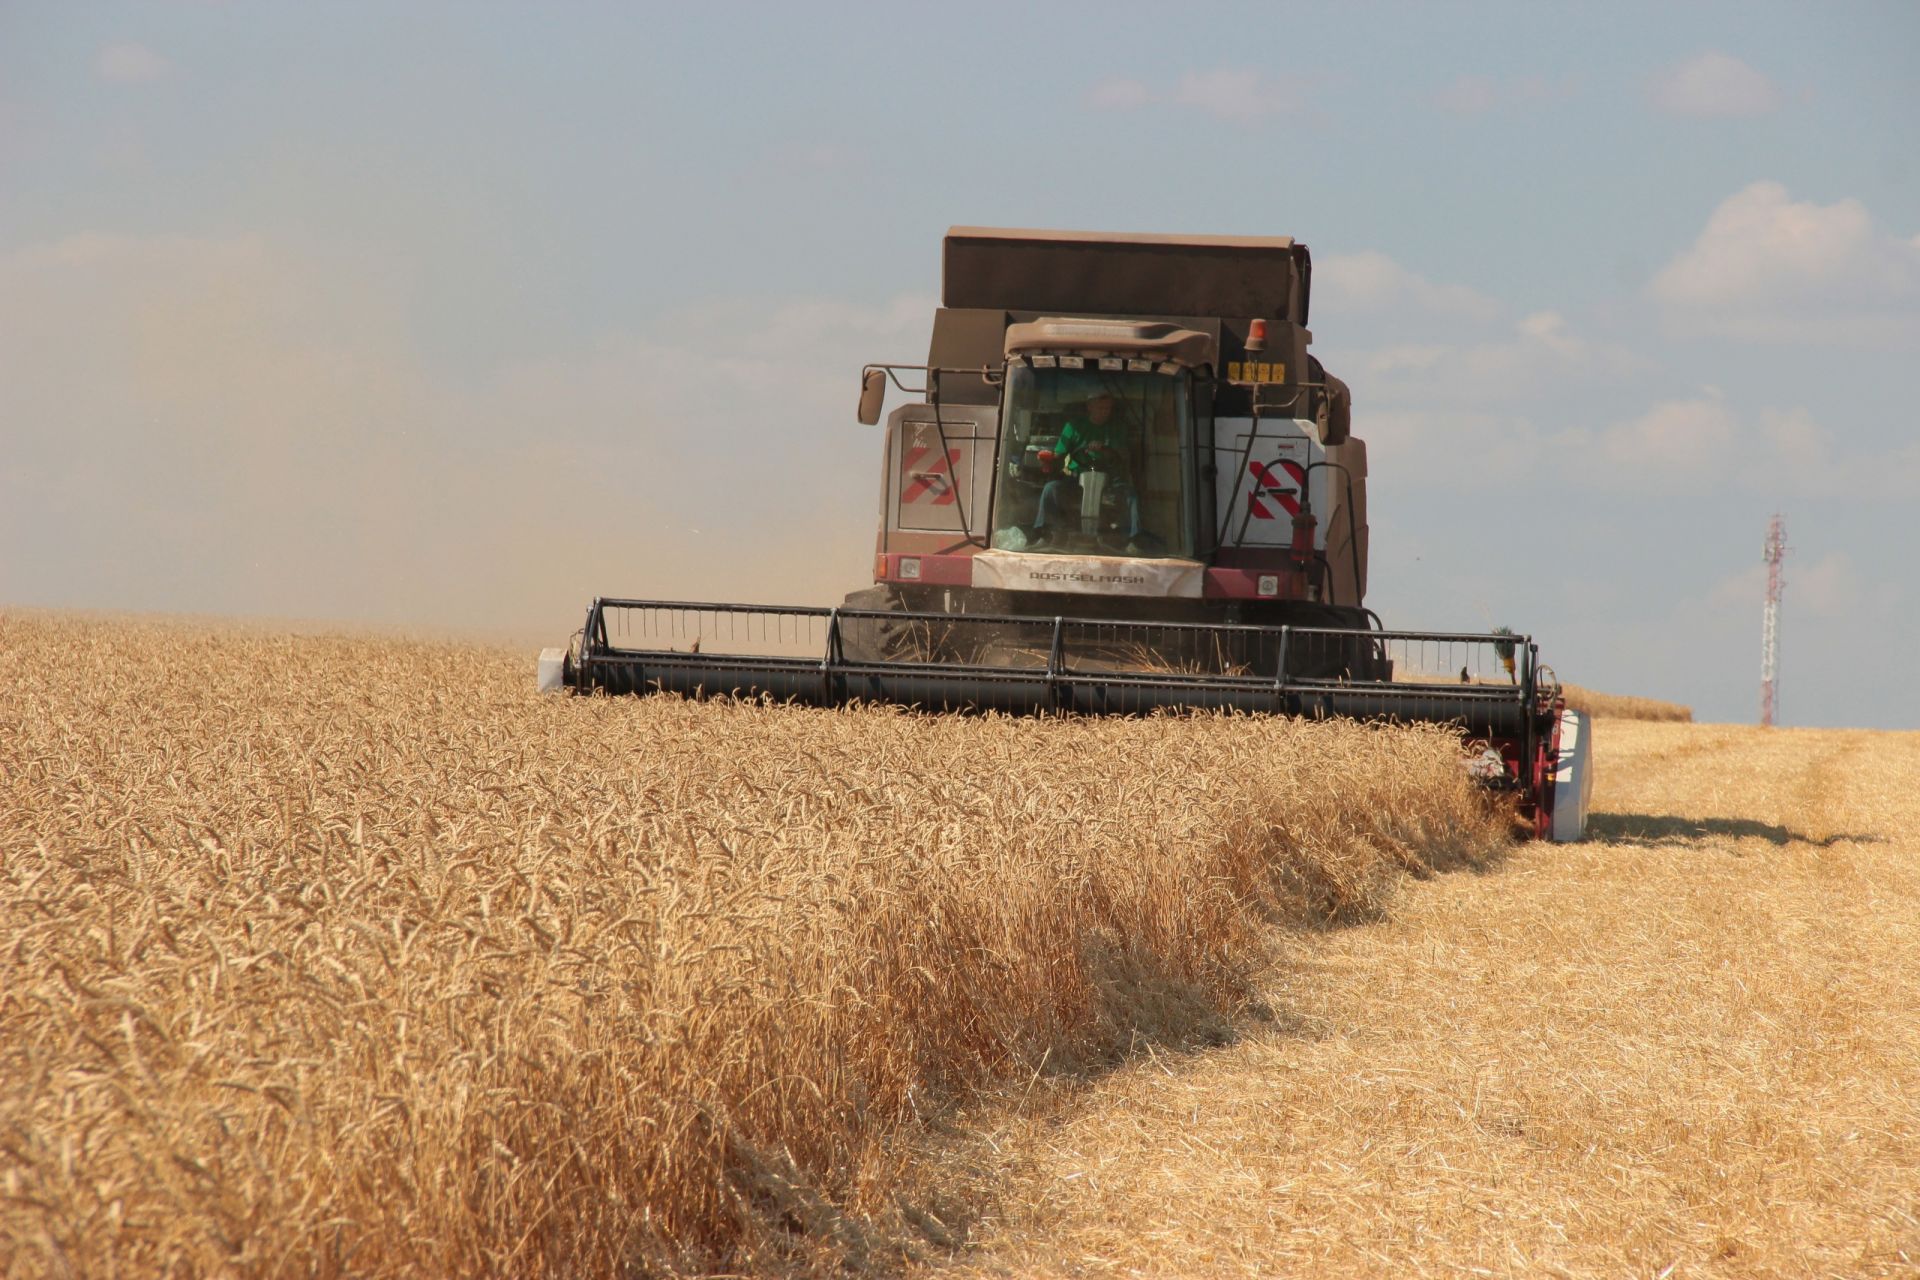
[[[922,1117],[1503,842],[1438,731],[530,683],[0,622],[0,1272],[891,1268]]]

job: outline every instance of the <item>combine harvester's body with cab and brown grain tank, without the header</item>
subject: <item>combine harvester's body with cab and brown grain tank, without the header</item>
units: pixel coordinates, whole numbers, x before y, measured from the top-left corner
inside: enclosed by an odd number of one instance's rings
[[[1365,445],[1288,238],[960,226],[860,603],[1365,628]],[[876,374],[879,380],[876,380]],[[876,391],[877,388],[877,391]]]

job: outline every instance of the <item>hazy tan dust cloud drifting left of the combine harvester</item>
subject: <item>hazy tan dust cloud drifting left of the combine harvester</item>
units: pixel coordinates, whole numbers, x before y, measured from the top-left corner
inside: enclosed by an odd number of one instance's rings
[[[559,643],[591,595],[868,581],[864,361],[929,299],[733,299],[484,368],[401,286],[259,238],[0,257],[0,601]]]

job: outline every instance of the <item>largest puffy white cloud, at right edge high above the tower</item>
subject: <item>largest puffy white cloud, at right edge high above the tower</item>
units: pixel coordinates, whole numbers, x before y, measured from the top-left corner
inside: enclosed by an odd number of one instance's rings
[[[1818,205],[1755,182],[1647,294],[1682,332],[1903,345],[1920,338],[1920,236],[1882,232],[1859,200]]]

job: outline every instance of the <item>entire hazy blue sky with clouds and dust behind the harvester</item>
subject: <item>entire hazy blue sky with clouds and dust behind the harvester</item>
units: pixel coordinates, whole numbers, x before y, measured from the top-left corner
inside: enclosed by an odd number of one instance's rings
[[[952,223],[1294,234],[1369,603],[1920,723],[1914,6],[0,6],[0,601],[837,599]]]

